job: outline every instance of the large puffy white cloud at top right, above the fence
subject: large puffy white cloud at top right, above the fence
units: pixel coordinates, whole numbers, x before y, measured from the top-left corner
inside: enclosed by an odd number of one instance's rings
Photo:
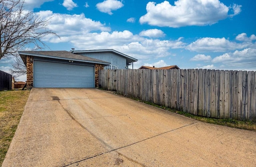
[[[228,15],[230,8],[219,0],[177,0],[174,6],[168,1],[148,2],[147,13],[140,18],[140,23],[173,28],[206,26],[239,14],[240,8],[234,4],[234,14]]]

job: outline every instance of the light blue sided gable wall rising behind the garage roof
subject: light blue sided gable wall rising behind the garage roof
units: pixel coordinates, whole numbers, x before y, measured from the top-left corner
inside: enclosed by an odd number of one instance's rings
[[[126,69],[126,58],[112,52],[79,53],[87,57],[102,60],[115,65],[118,69]]]

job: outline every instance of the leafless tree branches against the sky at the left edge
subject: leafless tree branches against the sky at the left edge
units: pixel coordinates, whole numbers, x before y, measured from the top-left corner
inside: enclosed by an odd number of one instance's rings
[[[18,51],[28,50],[31,45],[33,50],[48,47],[42,38],[46,35],[58,36],[47,28],[49,24],[49,19],[44,20],[24,10],[24,0],[0,0],[0,59],[18,56]],[[12,67],[13,74],[26,74],[26,66],[20,59],[16,59]]]

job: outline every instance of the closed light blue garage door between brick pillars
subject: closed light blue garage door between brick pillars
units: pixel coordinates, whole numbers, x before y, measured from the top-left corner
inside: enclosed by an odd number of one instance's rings
[[[36,88],[94,88],[94,66],[34,61]]]

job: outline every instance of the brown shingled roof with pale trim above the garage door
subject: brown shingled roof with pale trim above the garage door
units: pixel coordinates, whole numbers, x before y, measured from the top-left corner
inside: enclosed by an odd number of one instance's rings
[[[74,54],[69,51],[19,51],[20,57],[22,58],[23,62],[26,65],[26,55],[35,56],[35,57],[45,57],[45,58],[52,58],[52,59],[62,59],[62,60],[73,60],[73,61],[80,61],[86,63],[99,63],[104,65],[110,65],[106,61],[94,59],[91,57],[86,57],[83,55]]]

